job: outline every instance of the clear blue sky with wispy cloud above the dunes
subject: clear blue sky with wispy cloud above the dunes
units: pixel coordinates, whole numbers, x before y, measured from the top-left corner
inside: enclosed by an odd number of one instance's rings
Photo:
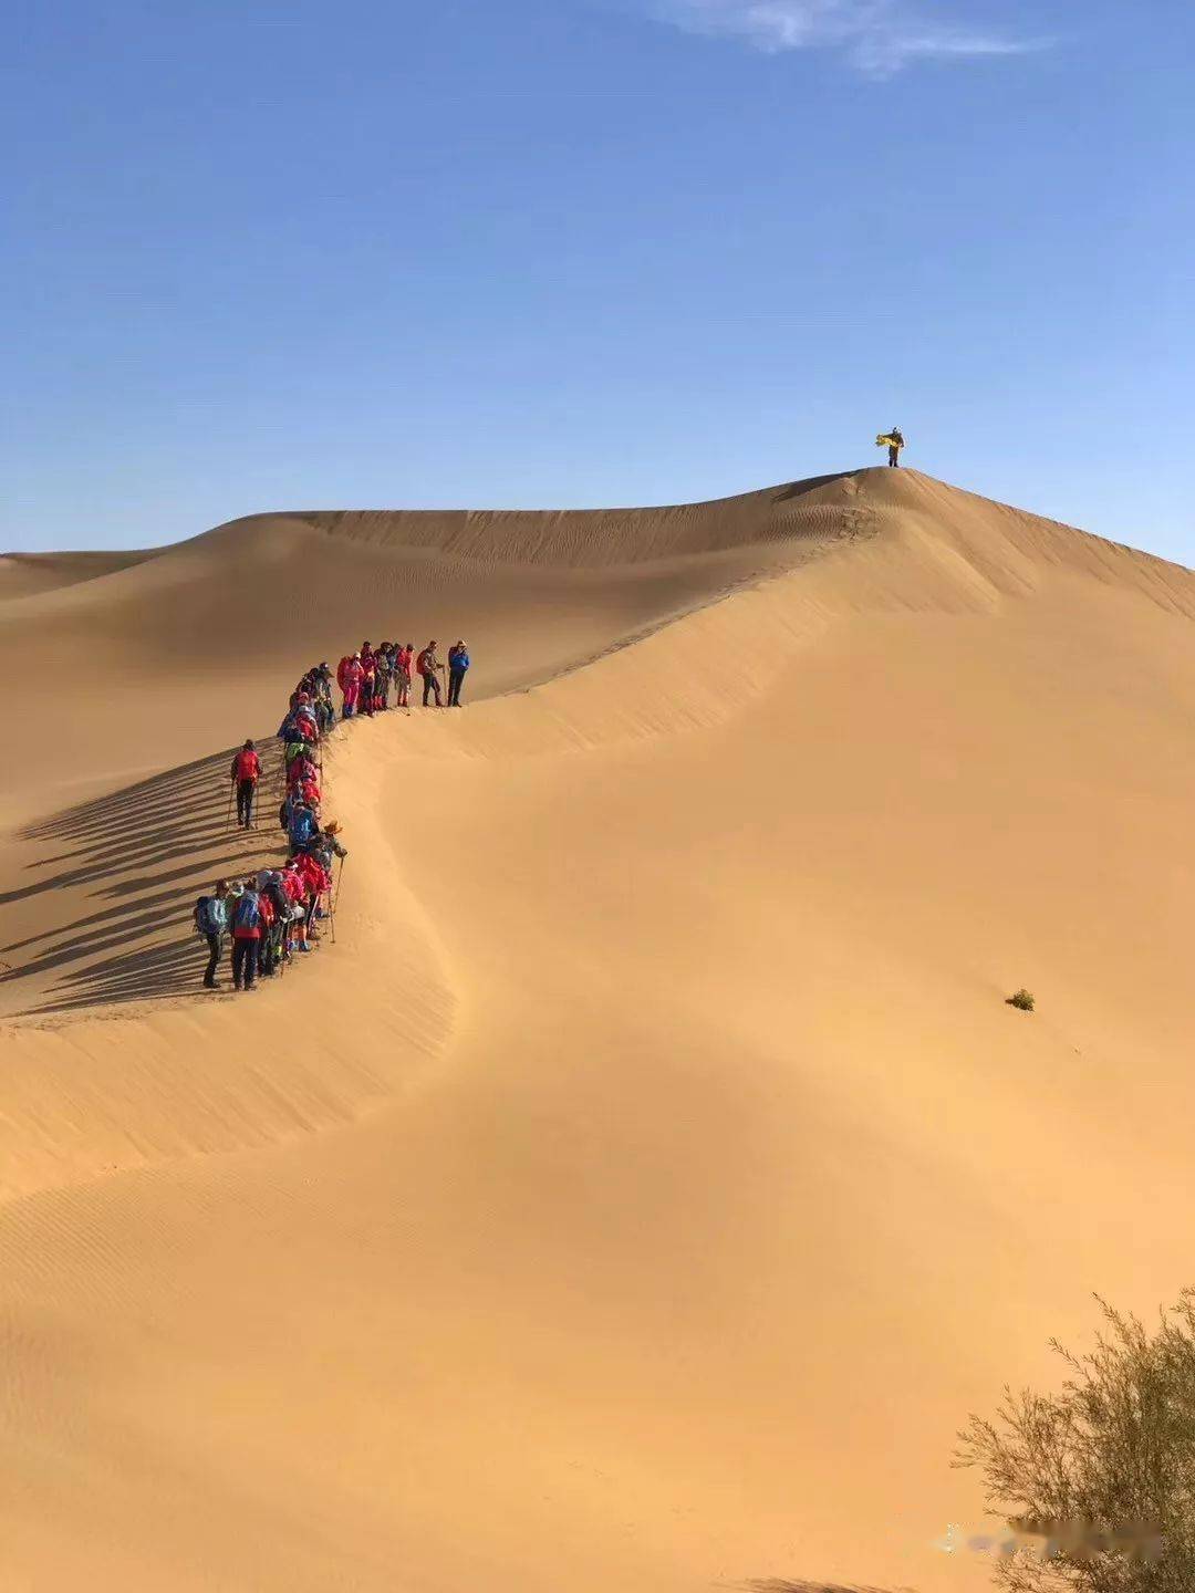
[[[1193,11],[18,0],[0,545],[703,499],[899,424],[1195,564]]]

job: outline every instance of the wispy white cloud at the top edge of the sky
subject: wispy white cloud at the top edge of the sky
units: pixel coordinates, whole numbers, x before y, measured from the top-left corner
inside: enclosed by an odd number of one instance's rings
[[[1017,56],[1040,41],[938,19],[918,0],[652,0],[653,13],[688,33],[742,38],[770,54],[840,49],[872,76],[915,61]]]

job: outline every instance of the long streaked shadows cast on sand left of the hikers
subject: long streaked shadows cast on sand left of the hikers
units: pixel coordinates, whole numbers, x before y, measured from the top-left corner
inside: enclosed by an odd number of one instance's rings
[[[257,828],[241,830],[229,806],[233,749],[80,803],[18,836],[40,854],[0,906],[46,897],[37,933],[0,946],[0,999],[22,1016],[113,1002],[202,996],[206,961],[191,913],[217,878],[247,876],[285,857],[277,827],[282,769],[276,742]],[[27,986],[16,1005],[13,986]]]

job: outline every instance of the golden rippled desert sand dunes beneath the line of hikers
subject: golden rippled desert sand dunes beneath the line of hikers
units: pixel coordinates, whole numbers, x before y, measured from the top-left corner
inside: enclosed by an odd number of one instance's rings
[[[903,470],[0,561],[5,1593],[986,1587],[967,1413],[1195,1281],[1193,620]],[[228,749],[392,636],[467,707],[204,996]]]

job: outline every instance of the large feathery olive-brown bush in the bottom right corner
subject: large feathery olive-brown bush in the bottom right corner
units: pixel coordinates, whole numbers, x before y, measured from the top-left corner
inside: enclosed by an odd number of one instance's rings
[[[1096,1297],[1099,1298],[1099,1297]],[[954,1466],[978,1467],[1020,1547],[994,1561],[1010,1593],[1195,1588],[1195,1289],[1150,1333],[1099,1300],[1096,1348],[1060,1394],[1004,1391],[970,1418]]]

